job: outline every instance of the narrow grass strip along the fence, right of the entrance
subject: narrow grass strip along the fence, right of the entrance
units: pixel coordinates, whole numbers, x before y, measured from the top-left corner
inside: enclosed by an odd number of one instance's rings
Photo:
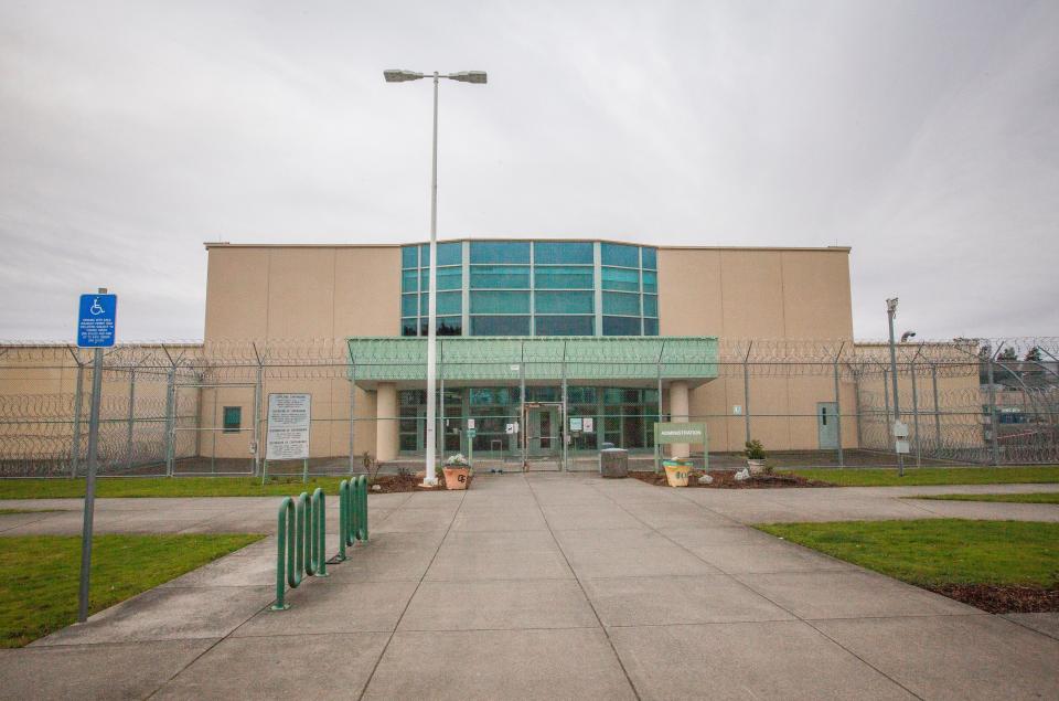
[[[905,477],[897,468],[852,467],[845,469],[796,468],[781,470],[839,487],[920,487],[924,485],[1008,485],[1059,482],[1059,466],[1041,467],[908,467]]]

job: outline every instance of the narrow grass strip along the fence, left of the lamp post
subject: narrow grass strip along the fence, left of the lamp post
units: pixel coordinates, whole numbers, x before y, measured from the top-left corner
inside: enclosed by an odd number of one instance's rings
[[[254,477],[107,477],[96,480],[97,497],[288,497],[323,487],[339,493],[341,477],[270,479]],[[62,499],[85,496],[84,479],[2,479],[0,499]]]

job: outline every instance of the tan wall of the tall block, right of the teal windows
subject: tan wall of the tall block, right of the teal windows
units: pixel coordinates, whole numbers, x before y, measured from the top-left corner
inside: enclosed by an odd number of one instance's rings
[[[848,248],[660,248],[659,316],[663,336],[732,339],[853,339]],[[692,413],[705,417],[712,450],[740,450],[746,411],[740,368],[692,392]],[[843,413],[855,389],[843,382]],[[831,374],[750,378],[751,436],[767,447],[819,447],[816,403],[833,402]],[[798,416],[766,416],[796,414]],[[844,422],[843,446],[856,446],[856,426]]]

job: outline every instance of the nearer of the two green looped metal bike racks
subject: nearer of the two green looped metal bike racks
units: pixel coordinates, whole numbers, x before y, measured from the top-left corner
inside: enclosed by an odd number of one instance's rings
[[[297,588],[302,575],[328,576],[328,561],[323,554],[327,530],[323,489],[318,487],[311,499],[304,491],[297,501],[284,497],[277,525],[276,603],[272,610],[285,610],[290,608],[290,604],[284,601],[288,584]]]

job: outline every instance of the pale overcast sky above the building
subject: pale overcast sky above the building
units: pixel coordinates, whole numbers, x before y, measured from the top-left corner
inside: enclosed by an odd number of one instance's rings
[[[1059,2],[0,0],[0,338],[203,332],[204,241],[853,247],[854,330],[1059,336]],[[752,284],[748,280],[747,284]]]

